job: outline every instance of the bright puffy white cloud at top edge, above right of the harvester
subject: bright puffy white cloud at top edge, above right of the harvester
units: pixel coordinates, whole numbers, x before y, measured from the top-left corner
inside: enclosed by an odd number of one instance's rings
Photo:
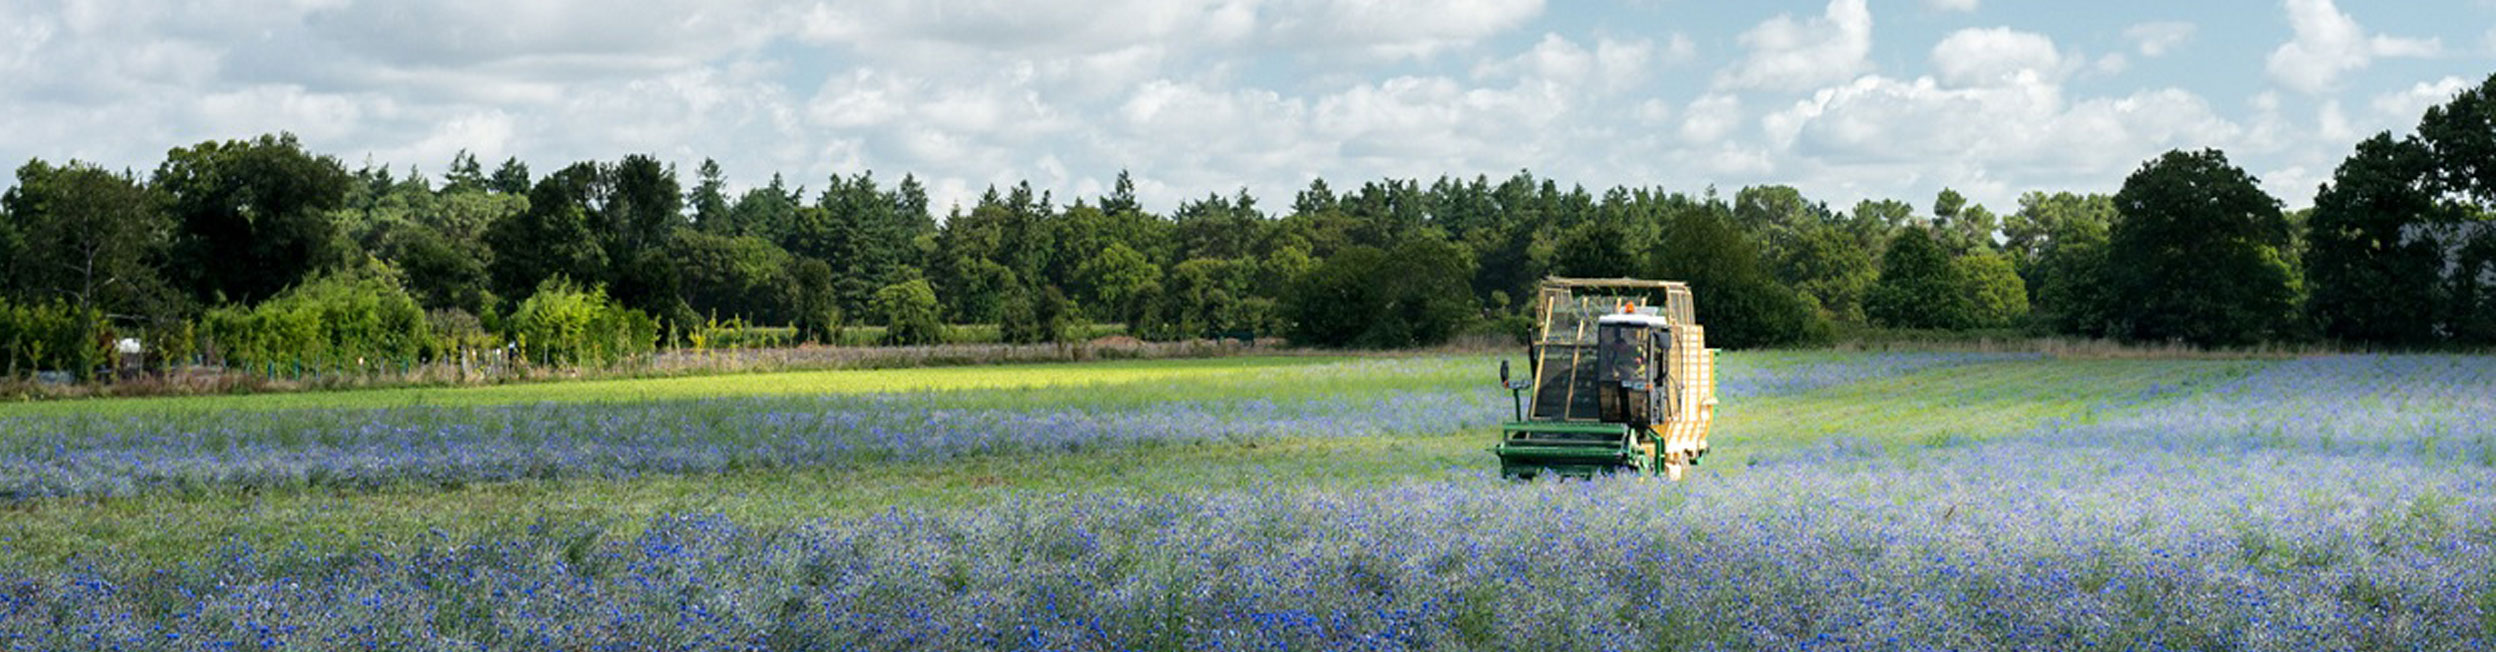
[[[1872,10],[1830,0],[1820,17],[1777,15],[1740,37],[1747,57],[1717,72],[1720,87],[1810,90],[1872,70]]]

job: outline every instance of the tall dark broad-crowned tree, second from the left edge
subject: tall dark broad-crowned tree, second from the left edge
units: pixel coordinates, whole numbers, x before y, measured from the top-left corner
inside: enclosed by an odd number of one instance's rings
[[[349,247],[329,212],[352,182],[337,157],[305,152],[295,135],[172,150],[155,172],[177,225],[167,270],[200,302],[257,302],[344,265]]]

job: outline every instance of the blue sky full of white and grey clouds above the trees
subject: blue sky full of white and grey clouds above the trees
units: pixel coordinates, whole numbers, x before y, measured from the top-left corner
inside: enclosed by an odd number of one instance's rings
[[[295,132],[347,167],[904,172],[1148,210],[1518,170],[1929,210],[2219,147],[2289,207],[2496,72],[2496,2],[0,0],[0,162],[147,172]]]

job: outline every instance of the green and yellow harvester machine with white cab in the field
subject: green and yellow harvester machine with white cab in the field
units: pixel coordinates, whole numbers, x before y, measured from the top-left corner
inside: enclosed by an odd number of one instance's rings
[[[1680,480],[1707,457],[1715,350],[1692,315],[1690,285],[1548,277],[1535,315],[1525,377],[1500,362],[1515,412],[1490,447],[1500,475],[1630,470]]]

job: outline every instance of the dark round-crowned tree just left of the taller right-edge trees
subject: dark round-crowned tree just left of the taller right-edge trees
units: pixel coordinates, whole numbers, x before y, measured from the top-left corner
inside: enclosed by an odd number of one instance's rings
[[[2167,152],[2114,192],[2107,280],[2127,340],[2251,345],[2286,332],[2296,277],[2289,222],[2219,150]]]

